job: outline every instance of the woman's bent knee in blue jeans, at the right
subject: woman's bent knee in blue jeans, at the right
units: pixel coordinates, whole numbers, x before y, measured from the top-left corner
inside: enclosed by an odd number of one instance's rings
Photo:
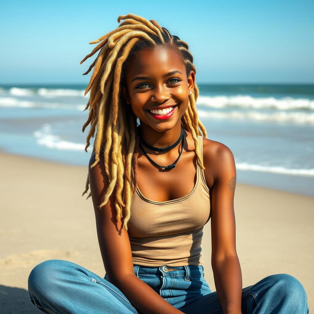
[[[295,277],[289,274],[274,274],[268,276],[267,279],[282,298],[290,298],[295,301],[307,299],[304,287]]]

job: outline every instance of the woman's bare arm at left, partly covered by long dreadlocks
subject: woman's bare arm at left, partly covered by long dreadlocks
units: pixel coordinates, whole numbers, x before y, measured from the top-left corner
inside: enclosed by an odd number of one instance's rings
[[[97,236],[105,271],[110,283],[119,288],[131,304],[143,314],[179,314],[183,313],[165,301],[149,285],[134,274],[131,245],[122,222],[116,220],[114,194],[99,209],[103,194],[108,186],[104,162],[95,161],[92,154],[89,162],[89,183],[95,210]]]

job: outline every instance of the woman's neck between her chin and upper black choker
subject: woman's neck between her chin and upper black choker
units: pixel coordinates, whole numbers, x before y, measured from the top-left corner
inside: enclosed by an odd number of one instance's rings
[[[178,140],[181,135],[181,129],[181,123],[167,131],[156,131],[145,124],[140,124],[138,133],[147,144],[154,147],[165,148],[173,145]]]

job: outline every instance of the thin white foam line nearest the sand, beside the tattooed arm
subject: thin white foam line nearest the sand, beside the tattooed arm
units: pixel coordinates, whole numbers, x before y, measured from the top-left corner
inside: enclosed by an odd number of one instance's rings
[[[279,174],[288,174],[288,175],[299,175],[299,176],[314,176],[314,169],[292,169],[282,166],[262,166],[258,164],[250,164],[247,162],[236,162],[236,169],[239,170],[251,170],[251,171],[262,171],[262,172],[271,172]]]

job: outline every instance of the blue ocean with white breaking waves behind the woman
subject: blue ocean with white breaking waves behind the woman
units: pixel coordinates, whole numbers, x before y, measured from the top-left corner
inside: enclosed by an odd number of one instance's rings
[[[232,150],[238,183],[314,196],[314,84],[198,86],[207,137]],[[84,89],[0,85],[0,149],[87,167]]]

